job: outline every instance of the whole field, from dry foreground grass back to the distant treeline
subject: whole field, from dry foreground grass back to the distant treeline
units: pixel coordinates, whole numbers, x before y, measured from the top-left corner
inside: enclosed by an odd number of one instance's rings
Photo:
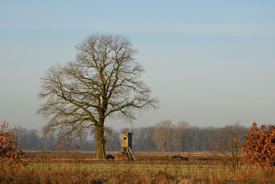
[[[115,156],[116,152],[107,154]],[[224,156],[151,152],[136,152],[135,156],[137,161],[98,161],[94,152],[27,152],[23,156],[25,166],[1,168],[0,182],[275,183],[273,167],[242,165],[233,171]]]

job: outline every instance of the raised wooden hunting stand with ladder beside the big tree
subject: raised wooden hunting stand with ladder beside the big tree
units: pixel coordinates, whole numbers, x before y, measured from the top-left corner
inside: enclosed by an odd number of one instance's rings
[[[132,133],[121,133],[121,151],[125,152],[127,155],[130,155],[133,160],[137,161],[137,159],[135,159],[135,154],[133,154],[132,150]]]

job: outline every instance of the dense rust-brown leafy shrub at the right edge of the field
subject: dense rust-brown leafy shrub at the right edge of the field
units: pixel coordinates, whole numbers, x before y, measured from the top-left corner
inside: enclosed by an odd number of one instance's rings
[[[241,150],[244,150],[244,160],[248,163],[255,163],[262,167],[275,165],[275,126],[270,125],[266,130],[265,125],[258,130],[257,124],[253,123],[252,128],[245,136],[246,143]]]

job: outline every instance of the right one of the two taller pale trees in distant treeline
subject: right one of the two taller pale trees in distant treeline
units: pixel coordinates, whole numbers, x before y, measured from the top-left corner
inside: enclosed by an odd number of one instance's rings
[[[186,121],[179,121],[173,130],[172,144],[177,151],[184,152],[184,144],[186,142],[186,130],[189,127]]]

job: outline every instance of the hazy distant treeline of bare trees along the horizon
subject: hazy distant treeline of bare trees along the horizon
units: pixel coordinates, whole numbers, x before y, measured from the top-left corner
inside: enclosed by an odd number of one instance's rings
[[[248,127],[238,125],[238,137],[242,141]],[[21,150],[81,150],[96,151],[93,131],[83,130],[78,134],[70,134],[59,141],[56,132],[39,134],[38,130],[13,128],[17,130],[14,139]],[[106,130],[107,151],[120,150],[121,132],[133,133],[133,150],[138,152],[199,152],[209,151],[219,139],[228,139],[228,127],[195,127],[181,121],[172,125],[170,121],[161,121],[154,126],[123,128],[122,130]]]

